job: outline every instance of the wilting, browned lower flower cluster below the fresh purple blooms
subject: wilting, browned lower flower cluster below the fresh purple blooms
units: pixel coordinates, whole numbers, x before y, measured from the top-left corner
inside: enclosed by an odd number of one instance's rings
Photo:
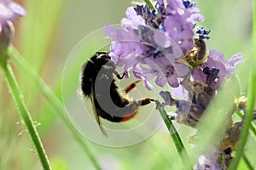
[[[173,99],[168,91],[161,92],[160,95],[165,100],[163,105],[176,105],[177,122],[195,127],[221,84],[236,73],[238,65],[245,62],[241,57],[242,54],[236,54],[227,60],[224,54],[210,50],[207,62],[195,67],[192,73],[180,82],[182,86],[179,88],[183,89],[183,93],[178,94],[177,91],[181,90],[174,89],[174,94],[183,99]],[[182,96],[184,93],[187,94],[187,98]]]

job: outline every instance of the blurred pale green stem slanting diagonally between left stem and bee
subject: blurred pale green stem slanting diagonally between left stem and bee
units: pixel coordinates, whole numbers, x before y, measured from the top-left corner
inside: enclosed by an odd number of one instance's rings
[[[66,124],[68,129],[73,134],[74,139],[82,146],[85,154],[89,156],[90,161],[93,163],[96,169],[101,169],[100,165],[96,161],[95,156],[93,156],[89,146],[85,144],[84,137],[77,132],[76,128],[73,127],[72,123],[69,122],[65,108],[55,94],[51,91],[48,85],[39,77],[37,71],[35,71],[30,65],[26,63],[26,60],[19,54],[19,52],[12,47],[12,56],[15,59],[15,62],[21,67],[21,69],[26,73],[28,77],[35,83],[38,89],[44,94],[44,97],[49,101],[49,103],[55,108],[55,111],[58,113],[58,116],[61,117],[62,121]]]

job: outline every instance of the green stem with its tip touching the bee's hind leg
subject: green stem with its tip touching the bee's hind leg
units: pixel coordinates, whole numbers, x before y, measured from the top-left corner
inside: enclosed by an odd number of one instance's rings
[[[171,137],[176,146],[177,152],[178,152],[181,160],[184,162],[185,169],[192,169],[190,161],[189,161],[189,155],[188,155],[187,151],[185,150],[182,139],[180,138],[179,134],[177,133],[177,130],[172,123],[172,120],[167,116],[166,111],[162,110],[160,102],[158,100],[156,100],[155,103],[156,103],[156,109],[160,112],[160,115],[162,116],[162,119],[166,123],[166,127],[168,128],[169,133],[171,134]]]

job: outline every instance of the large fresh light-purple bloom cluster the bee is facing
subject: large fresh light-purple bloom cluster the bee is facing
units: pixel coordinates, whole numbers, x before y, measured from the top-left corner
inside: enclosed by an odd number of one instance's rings
[[[204,20],[195,3],[180,0],[154,1],[155,8],[137,5],[126,10],[127,18],[121,28],[107,25],[108,37],[113,39],[110,56],[118,66],[144,80],[164,87],[179,86],[179,77],[189,74],[189,66],[177,62],[194,47],[195,21]]]

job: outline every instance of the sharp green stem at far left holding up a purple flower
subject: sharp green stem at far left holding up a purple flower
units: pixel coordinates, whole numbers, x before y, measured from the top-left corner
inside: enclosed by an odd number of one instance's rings
[[[37,150],[39,160],[41,161],[41,165],[44,170],[50,170],[51,167],[49,165],[49,160],[45,154],[43,144],[38,135],[38,131],[35,125],[33,124],[32,117],[26,109],[23,95],[20,92],[20,88],[18,86],[18,83],[16,82],[14,72],[11,66],[9,65],[9,62],[5,62],[5,64],[2,65],[2,68],[3,68],[4,76],[6,77],[6,80],[9,85],[10,93],[12,94],[15,100],[15,104],[17,105],[17,109],[20,112],[21,119],[25,123],[27,132],[29,133],[32,139],[32,143],[34,144]]]

